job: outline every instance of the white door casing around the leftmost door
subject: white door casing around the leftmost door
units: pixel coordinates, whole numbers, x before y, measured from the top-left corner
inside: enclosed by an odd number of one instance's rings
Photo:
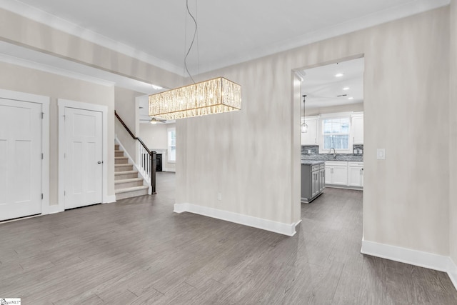
[[[43,119],[41,120],[41,152],[43,160],[41,161],[41,215],[47,214],[49,206],[49,96],[28,94],[19,91],[0,89],[0,98],[13,99],[16,101],[27,101],[30,103],[41,104]]]

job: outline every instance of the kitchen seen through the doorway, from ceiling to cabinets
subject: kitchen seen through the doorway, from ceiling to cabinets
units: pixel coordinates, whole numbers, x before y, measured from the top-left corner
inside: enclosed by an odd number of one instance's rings
[[[307,69],[301,106],[301,202],[326,187],[363,191],[363,58]]]

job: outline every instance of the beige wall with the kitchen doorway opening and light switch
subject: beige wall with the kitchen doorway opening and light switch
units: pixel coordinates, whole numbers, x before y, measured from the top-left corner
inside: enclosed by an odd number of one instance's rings
[[[291,70],[361,55],[364,239],[448,255],[448,7],[199,77],[241,84],[243,105],[176,123],[176,202],[297,221],[301,99]]]

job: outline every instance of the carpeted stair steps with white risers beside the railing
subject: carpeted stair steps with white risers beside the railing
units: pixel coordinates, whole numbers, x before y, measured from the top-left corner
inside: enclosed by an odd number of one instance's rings
[[[144,185],[134,165],[129,163],[129,157],[119,145],[114,145],[114,192],[116,200],[147,195],[149,186]]]

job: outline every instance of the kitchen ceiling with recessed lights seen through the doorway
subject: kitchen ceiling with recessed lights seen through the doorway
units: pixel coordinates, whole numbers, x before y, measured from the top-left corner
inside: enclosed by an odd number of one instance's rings
[[[306,109],[362,103],[363,67],[361,58],[299,71]]]

